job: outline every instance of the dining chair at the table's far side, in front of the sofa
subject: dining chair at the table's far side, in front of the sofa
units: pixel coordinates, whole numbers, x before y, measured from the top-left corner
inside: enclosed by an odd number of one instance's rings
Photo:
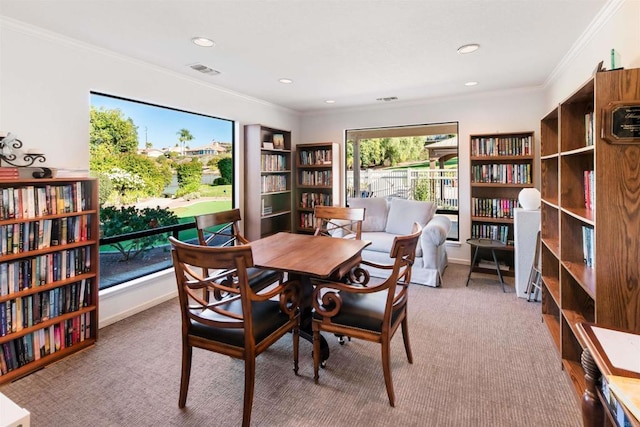
[[[316,206],[314,209],[316,219],[314,235],[360,240],[364,214],[364,208]]]

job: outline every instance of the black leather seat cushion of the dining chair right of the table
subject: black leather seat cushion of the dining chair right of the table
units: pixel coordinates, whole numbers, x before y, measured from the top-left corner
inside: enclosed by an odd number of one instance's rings
[[[332,323],[382,332],[387,292],[372,294],[340,292],[340,297],[342,298],[342,308],[337,315],[331,318]],[[394,310],[391,314],[391,323],[395,322],[399,314],[400,310]],[[317,320],[322,319],[322,316],[316,312],[313,313],[313,317]]]

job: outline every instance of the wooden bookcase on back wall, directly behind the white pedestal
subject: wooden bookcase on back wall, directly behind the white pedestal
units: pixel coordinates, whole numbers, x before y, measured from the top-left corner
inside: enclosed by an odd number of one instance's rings
[[[503,241],[506,246],[499,257],[508,267],[503,273],[513,276],[514,210],[518,207],[518,193],[534,186],[534,133],[471,135],[470,153],[471,238]],[[492,259],[488,252],[481,251],[478,256]],[[489,269],[480,264],[475,270],[495,273],[493,264]]]

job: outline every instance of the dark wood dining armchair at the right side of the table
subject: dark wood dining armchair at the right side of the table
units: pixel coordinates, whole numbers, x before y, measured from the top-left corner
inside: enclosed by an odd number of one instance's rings
[[[389,404],[395,406],[391,377],[391,338],[402,328],[404,348],[409,363],[413,355],[409,344],[407,322],[408,288],[416,245],[422,228],[414,224],[413,233],[398,236],[393,241],[390,257],[392,265],[362,261],[363,265],[391,270],[381,284],[360,285],[339,282],[319,282],[313,292],[313,370],[318,383],[320,367],[320,332],[360,338],[381,344],[382,371]]]

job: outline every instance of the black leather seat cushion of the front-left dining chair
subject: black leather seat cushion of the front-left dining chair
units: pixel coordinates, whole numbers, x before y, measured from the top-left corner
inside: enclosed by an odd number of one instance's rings
[[[242,313],[240,300],[235,300],[230,304],[223,304],[225,310],[233,313]],[[282,327],[289,321],[289,316],[280,311],[280,304],[277,301],[254,302],[253,311],[253,335],[256,343],[259,343],[275,330]],[[215,313],[211,310],[204,312],[195,311],[200,317],[210,320],[228,321],[229,318]],[[191,320],[189,334],[201,338],[219,341],[233,346],[244,347],[244,329],[242,328],[215,328]]]

